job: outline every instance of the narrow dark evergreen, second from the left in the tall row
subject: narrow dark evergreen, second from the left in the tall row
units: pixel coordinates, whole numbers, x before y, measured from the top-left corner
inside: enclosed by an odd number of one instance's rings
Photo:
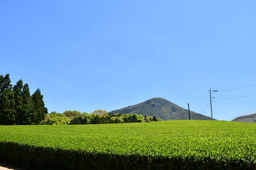
[[[17,81],[16,85],[13,86],[14,100],[15,100],[15,111],[16,111],[16,122],[15,124],[19,125],[22,122],[22,80]]]

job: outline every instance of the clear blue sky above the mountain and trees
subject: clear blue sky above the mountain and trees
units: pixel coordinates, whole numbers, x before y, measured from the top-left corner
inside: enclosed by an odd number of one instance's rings
[[[0,74],[22,79],[31,94],[39,87],[50,112],[111,111],[164,97],[202,113],[209,87],[256,83],[255,7],[254,0],[1,1]],[[214,101],[214,118],[256,110],[255,99]]]

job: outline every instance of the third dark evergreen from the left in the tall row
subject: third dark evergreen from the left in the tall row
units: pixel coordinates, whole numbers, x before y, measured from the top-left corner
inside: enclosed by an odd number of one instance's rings
[[[29,92],[28,84],[24,84],[21,92],[22,96],[22,112],[20,113],[20,124],[35,124],[33,122],[33,102]]]

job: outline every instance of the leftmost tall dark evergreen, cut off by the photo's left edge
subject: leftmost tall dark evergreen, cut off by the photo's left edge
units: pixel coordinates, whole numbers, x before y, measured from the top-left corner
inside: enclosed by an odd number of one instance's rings
[[[10,75],[0,78],[0,124],[15,124],[15,101]]]

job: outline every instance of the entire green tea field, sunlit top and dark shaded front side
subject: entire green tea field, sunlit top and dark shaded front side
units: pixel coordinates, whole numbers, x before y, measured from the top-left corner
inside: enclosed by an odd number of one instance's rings
[[[0,126],[0,160],[52,169],[254,169],[256,124]]]

